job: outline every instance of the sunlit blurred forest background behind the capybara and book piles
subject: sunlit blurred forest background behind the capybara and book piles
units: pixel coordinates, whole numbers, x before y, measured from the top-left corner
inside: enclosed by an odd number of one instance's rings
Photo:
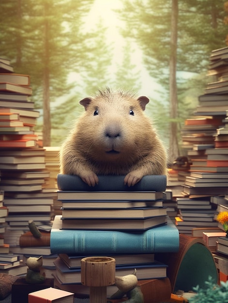
[[[210,82],[210,53],[226,46],[225,2],[1,0],[0,57],[30,75],[44,146],[61,145],[79,100],[109,86],[150,98],[146,113],[172,160]]]

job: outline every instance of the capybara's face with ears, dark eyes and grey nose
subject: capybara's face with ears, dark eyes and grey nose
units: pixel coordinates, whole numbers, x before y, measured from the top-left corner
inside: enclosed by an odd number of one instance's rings
[[[138,132],[149,123],[143,113],[149,100],[141,98],[115,94],[80,101],[86,110],[83,120],[89,123],[85,141],[90,142],[90,157],[104,161],[131,157],[137,149]]]

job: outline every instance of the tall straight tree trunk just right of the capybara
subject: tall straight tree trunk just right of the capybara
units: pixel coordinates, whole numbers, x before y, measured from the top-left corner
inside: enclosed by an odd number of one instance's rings
[[[169,102],[170,102],[170,136],[169,136],[169,161],[173,162],[179,155],[178,149],[178,99],[177,99],[177,24],[178,24],[178,0],[172,0],[171,13],[171,55],[169,61]]]

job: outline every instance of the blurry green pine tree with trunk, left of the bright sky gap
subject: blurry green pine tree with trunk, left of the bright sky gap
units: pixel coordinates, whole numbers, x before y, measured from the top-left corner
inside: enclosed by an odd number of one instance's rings
[[[11,12],[11,9],[15,12],[15,1],[0,2],[4,15],[0,32],[9,28],[8,34],[0,36],[0,54],[7,55],[6,45],[10,48],[12,26],[18,34],[9,51],[10,59],[16,61],[16,72],[31,76],[33,100],[37,108],[43,108],[43,139],[46,146],[50,145],[51,140],[50,102],[70,90],[69,72],[78,71],[88,61],[86,39],[89,35],[82,34],[80,26],[82,16],[89,11],[92,2],[16,1],[16,11],[19,12],[17,22],[13,20]]]

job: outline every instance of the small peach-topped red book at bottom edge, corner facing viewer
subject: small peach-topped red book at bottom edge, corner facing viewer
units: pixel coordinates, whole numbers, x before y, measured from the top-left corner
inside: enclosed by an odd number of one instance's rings
[[[61,300],[64,298],[67,299],[67,301]],[[28,296],[28,303],[51,303],[57,300],[61,303],[74,303],[74,293],[50,287],[31,292]]]

